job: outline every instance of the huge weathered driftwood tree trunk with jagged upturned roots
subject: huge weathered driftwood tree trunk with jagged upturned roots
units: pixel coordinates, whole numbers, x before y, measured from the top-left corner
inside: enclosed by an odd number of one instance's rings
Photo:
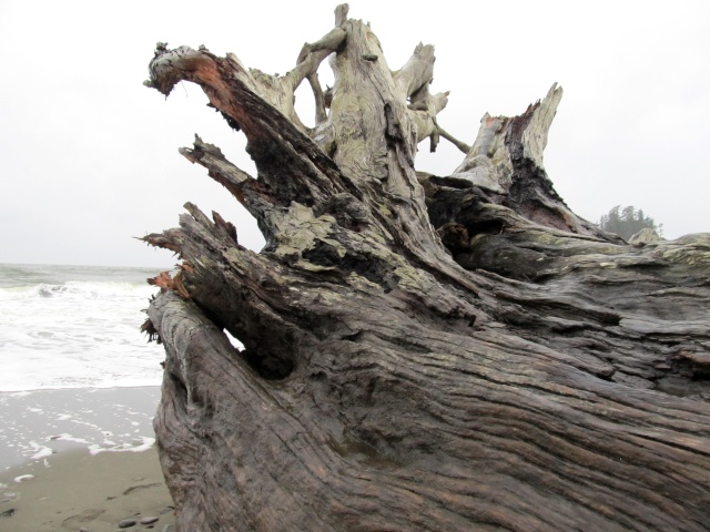
[[[181,153],[267,243],[191,204],[145,237],[181,258],[145,326],[179,530],[708,530],[710,236],[601,233],[542,168],[561,89],[468,147],[438,124],[433,48],[392,71],[346,13],[283,76],[151,61],[150,86],[200,84],[246,135],[255,178],[200,139]],[[417,175],[424,137],[467,152],[450,176]]]

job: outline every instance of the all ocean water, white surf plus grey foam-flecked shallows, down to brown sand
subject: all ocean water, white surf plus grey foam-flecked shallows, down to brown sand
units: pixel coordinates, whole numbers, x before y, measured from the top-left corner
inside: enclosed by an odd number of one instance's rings
[[[140,327],[158,274],[0,264],[0,470],[152,446],[165,355]]]

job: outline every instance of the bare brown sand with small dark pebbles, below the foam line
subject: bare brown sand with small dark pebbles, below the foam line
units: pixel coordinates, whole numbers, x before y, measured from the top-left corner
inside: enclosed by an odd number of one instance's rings
[[[172,500],[155,447],[141,452],[64,451],[0,473],[0,530],[174,532]],[[26,478],[24,475],[33,475]],[[18,479],[16,481],[16,479]],[[145,518],[159,518],[140,524]],[[121,529],[122,520],[136,524]]]

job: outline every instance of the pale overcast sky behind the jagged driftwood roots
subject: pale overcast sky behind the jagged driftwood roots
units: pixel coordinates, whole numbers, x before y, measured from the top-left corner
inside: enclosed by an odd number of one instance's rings
[[[710,231],[710,2],[420,4],[354,0],[349,16],[372,22],[393,70],[419,41],[436,45],[433,89],[452,91],[445,129],[471,143],[485,112],[519,114],[558,82],[545,165],[572,211],[596,221],[635,205],[669,238]],[[335,6],[0,0],[0,263],[170,266],[131,237],[175,226],[186,201],[258,249],[248,215],[178,154],[199,133],[251,172],[243,136],[195,85],[168,100],[142,86],[148,63],[166,41],[284,73],[333,27]],[[444,175],[463,160],[446,141],[427,151],[418,170]]]

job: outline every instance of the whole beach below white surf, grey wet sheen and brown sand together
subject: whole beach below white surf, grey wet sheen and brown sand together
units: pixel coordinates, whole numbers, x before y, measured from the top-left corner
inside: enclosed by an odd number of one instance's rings
[[[0,395],[0,531],[174,532],[151,424],[159,393]]]

